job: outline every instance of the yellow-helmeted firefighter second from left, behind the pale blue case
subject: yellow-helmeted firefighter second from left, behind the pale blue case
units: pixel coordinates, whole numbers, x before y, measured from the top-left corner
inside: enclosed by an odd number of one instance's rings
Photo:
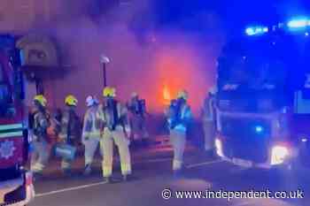
[[[79,118],[75,112],[78,100],[74,95],[67,95],[65,103],[66,109],[62,112],[60,122],[61,131],[59,134],[59,141],[74,147],[80,135]],[[71,164],[72,161],[66,158],[63,158],[61,161],[61,169],[66,175],[69,175],[71,172]]]

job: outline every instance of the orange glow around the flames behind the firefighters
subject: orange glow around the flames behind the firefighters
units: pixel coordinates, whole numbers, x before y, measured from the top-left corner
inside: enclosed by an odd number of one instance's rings
[[[155,57],[155,71],[159,82],[157,105],[167,106],[175,98],[178,91],[189,92],[189,103],[194,111],[198,111],[208,85],[207,73],[204,71],[204,59],[197,55],[190,45],[177,45],[175,48],[162,47]]]

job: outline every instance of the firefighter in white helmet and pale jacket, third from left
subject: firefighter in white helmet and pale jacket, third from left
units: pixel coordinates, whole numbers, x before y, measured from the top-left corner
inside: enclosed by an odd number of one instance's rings
[[[91,172],[91,164],[100,142],[100,119],[97,118],[98,102],[94,96],[89,95],[86,98],[86,105],[88,110],[84,116],[81,141],[85,146],[84,174],[88,175]]]

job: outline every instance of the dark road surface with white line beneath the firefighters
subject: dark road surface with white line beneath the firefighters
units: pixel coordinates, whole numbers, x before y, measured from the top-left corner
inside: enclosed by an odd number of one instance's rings
[[[100,172],[100,156],[95,161],[95,171],[88,177],[81,175],[83,160],[74,163],[74,174],[67,178],[58,172],[58,161],[52,161],[43,179],[35,181],[35,200],[30,206],[307,206],[309,205],[310,178],[294,176],[283,178],[275,172],[244,170],[232,164],[205,155],[193,146],[186,149],[185,169],[175,178],[171,172],[172,149],[167,145],[155,145],[131,149],[133,179],[121,181],[120,163],[114,161],[114,184],[107,184]],[[297,198],[234,198],[205,196],[205,190],[214,193],[276,191],[289,193],[302,190],[305,196]],[[199,198],[181,198],[183,191],[201,191]],[[181,194],[182,195],[182,194]]]

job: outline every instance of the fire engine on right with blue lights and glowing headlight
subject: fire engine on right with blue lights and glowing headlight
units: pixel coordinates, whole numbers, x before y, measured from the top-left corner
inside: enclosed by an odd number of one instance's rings
[[[215,147],[233,164],[310,166],[310,19],[253,26],[218,59]]]

